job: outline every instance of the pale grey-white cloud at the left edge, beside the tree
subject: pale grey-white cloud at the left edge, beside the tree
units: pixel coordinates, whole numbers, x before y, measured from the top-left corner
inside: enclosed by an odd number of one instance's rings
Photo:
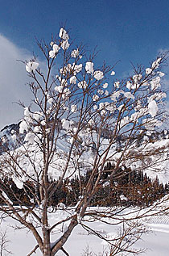
[[[0,35],[0,129],[18,122],[23,109],[14,102],[30,102],[31,94],[25,65],[17,60],[29,59],[31,53],[20,49],[5,36]]]

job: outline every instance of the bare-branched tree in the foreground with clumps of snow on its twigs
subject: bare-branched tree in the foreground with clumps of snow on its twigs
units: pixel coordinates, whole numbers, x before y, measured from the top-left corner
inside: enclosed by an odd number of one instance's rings
[[[130,209],[130,214],[123,211],[126,207],[89,206],[105,183],[122,178],[125,168],[157,170],[167,160],[167,141],[151,143],[147,139],[166,118],[166,94],[161,90],[160,79],[167,52],[149,68],[138,65],[133,76],[116,81],[114,67],[104,63],[96,68],[95,55],[85,57],[84,48],[73,49],[68,40],[67,31],[61,28],[59,38],[53,38],[51,44],[38,42],[46,60],[45,71],[40,69],[36,57],[24,62],[33,98],[28,107],[20,103],[24,107],[20,135],[12,135],[14,142],[4,146],[0,157],[0,210],[18,220],[35,237],[37,245],[28,255],[38,248],[44,256],[55,255],[59,250],[68,255],[64,245],[76,225],[107,241],[110,255],[138,254],[131,245],[144,229],[139,229],[136,220],[154,214],[155,205],[146,211]],[[122,145],[117,150],[119,137]],[[108,162],[113,167],[105,174]],[[90,176],[84,186],[81,179],[87,170]],[[60,184],[75,175],[80,183],[76,205],[70,207],[58,201],[54,206],[52,196]],[[11,180],[24,191],[29,199],[27,204],[8,186]],[[14,201],[18,205],[14,206]],[[58,216],[64,211],[60,220],[51,221],[53,209]],[[86,225],[95,220],[123,224],[122,232],[117,237],[105,237]],[[60,226],[62,232],[52,242],[52,233]]]

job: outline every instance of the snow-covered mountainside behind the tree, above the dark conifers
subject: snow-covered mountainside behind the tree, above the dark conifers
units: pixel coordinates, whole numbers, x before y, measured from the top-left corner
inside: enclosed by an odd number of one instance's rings
[[[7,125],[5,128],[2,128],[2,130],[0,131],[0,154],[4,153],[6,150],[19,149],[21,146],[21,143],[23,142],[26,143],[26,141],[24,141],[25,134],[19,133],[19,124],[21,124],[21,121],[18,124]],[[105,140],[106,140],[107,134],[108,134],[107,131],[103,133]],[[153,146],[153,145],[165,145],[168,141],[168,138],[169,138],[169,132],[164,130],[162,132],[154,132],[150,135],[142,136],[141,138],[139,138],[138,143],[142,145],[142,141],[147,141],[147,149],[148,149],[150,146]],[[85,141],[85,136],[84,136],[84,141]],[[124,141],[125,141],[124,137],[122,136],[117,137],[117,141],[113,146],[113,150],[119,151],[119,149],[123,148]],[[60,172],[62,171],[62,167],[64,166],[64,161],[65,161],[64,153],[66,153],[66,149],[68,149],[68,147],[70,146],[69,142],[70,141],[66,141],[65,138],[58,140],[58,144],[57,144],[58,152],[56,154],[57,160],[56,162],[53,162],[51,166],[51,170],[49,171],[49,174],[51,173],[52,177],[54,177],[55,179],[60,177]],[[36,155],[37,163],[41,162],[40,154],[41,153]],[[118,153],[117,153],[117,156],[118,156]],[[92,165],[93,150],[91,149],[86,150],[86,153],[84,153],[80,162],[84,162],[84,163],[88,162],[89,166],[90,166],[90,163]],[[60,172],[58,172],[58,168],[57,168],[57,172],[55,174],[56,165],[60,166],[59,168]],[[26,162],[24,162],[24,166],[28,167]],[[74,168],[73,165],[70,166],[71,170],[73,168]],[[29,170],[29,168],[27,168],[27,170]],[[159,160],[159,165],[156,164],[155,168],[146,168],[145,166],[143,170],[147,174],[147,176],[149,176],[150,178],[155,180],[155,178],[158,176],[160,183],[163,183],[163,184],[169,183],[169,161],[160,162]],[[71,174],[71,173],[69,172],[68,174]]]

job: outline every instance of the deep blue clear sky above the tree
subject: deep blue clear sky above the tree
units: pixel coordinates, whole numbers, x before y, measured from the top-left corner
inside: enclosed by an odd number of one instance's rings
[[[97,46],[97,65],[120,61],[116,67],[120,78],[130,72],[130,61],[148,65],[160,49],[169,49],[168,10],[168,0],[1,1],[0,55],[2,40],[7,40],[6,48],[14,47],[16,59],[27,57],[37,51],[35,36],[50,42],[52,33],[56,35],[60,24],[66,23],[77,44],[82,42],[89,50]],[[0,119],[1,112],[0,104]]]

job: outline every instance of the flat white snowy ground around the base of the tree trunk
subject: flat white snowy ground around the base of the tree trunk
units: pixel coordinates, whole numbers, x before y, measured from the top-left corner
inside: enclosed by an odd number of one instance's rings
[[[15,256],[26,256],[34,248],[35,239],[25,229],[14,231],[11,225],[14,225],[11,220],[3,220],[1,224],[1,229],[7,228],[7,236],[10,239],[8,250],[11,250]],[[102,233],[112,234],[117,229],[117,227],[112,226],[108,228],[100,222],[92,225],[94,229],[101,230]],[[135,247],[147,248],[146,254],[142,254],[144,256],[167,256],[169,250],[169,217],[155,217],[147,225],[151,228],[152,233],[144,234],[142,240],[138,241]],[[106,250],[104,243],[99,238],[87,234],[84,229],[77,226],[64,249],[68,251],[70,256],[82,256],[85,255],[84,250],[88,246],[95,253]],[[32,255],[40,256],[41,254],[37,250],[36,254]],[[65,256],[62,252],[57,255]]]

